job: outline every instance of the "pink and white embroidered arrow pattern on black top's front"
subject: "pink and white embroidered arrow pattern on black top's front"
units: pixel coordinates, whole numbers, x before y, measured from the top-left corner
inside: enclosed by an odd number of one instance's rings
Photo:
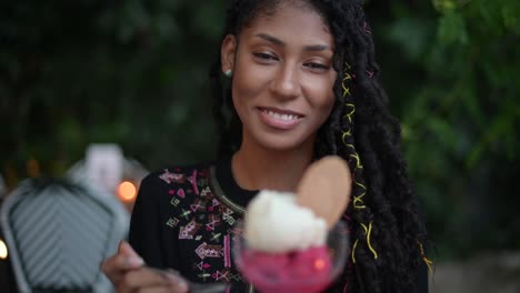
[[[209,170],[166,169],[158,176],[168,184],[169,219],[164,225],[176,233],[181,272],[198,282],[243,283],[231,257],[233,225],[241,218],[221,202],[210,185]],[[162,195],[161,195],[162,196]]]

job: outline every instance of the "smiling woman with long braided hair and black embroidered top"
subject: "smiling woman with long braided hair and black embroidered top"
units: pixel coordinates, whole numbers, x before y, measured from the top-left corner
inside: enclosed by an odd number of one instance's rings
[[[243,206],[261,189],[294,191],[327,154],[353,174],[351,253],[329,291],[427,292],[426,231],[378,72],[358,0],[231,1],[211,71],[222,156],[143,180],[131,246],[103,263],[118,292],[187,292],[187,280],[244,292],[229,255]]]

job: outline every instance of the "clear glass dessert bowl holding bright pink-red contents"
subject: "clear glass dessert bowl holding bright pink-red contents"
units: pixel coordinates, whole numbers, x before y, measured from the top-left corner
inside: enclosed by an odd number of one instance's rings
[[[237,223],[243,231],[243,222]],[[232,242],[237,269],[264,293],[317,293],[324,291],[341,273],[348,256],[347,224],[339,221],[327,234],[324,245],[289,252],[263,252],[248,245],[242,234]]]

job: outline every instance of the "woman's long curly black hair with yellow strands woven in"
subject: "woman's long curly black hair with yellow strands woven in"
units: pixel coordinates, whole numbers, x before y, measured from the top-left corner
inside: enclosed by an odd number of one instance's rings
[[[283,0],[232,0],[224,36],[239,36],[256,17],[273,13]],[[416,292],[424,260],[426,229],[401,151],[401,130],[379,82],[372,32],[360,0],[292,0],[310,8],[334,38],[336,102],[320,128],[314,158],[337,154],[353,172],[353,201],[344,213],[351,234],[347,269],[331,292]],[[241,122],[223,84],[220,51],[210,70],[220,154],[238,150]]]

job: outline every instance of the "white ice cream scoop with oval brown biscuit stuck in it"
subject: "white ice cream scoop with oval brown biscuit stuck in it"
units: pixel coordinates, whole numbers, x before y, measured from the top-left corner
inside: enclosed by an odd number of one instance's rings
[[[351,184],[347,162],[326,156],[308,168],[296,194],[261,191],[244,215],[248,245],[264,252],[323,245],[347,208]]]

